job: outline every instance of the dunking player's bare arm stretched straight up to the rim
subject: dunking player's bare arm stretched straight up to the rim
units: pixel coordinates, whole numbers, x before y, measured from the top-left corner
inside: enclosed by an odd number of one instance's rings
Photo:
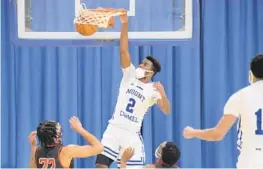
[[[120,38],[120,60],[121,67],[123,69],[127,68],[131,64],[131,57],[129,53],[128,45],[128,16],[127,12],[124,15],[120,16],[122,28],[121,28],[121,38]]]

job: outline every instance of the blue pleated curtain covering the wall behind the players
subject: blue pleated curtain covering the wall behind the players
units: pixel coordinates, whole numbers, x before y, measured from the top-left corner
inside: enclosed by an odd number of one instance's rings
[[[9,3],[1,3],[1,167],[27,167],[27,136],[44,119],[61,123],[65,144],[85,143],[69,127],[73,115],[101,138],[121,79],[119,48],[16,46],[9,38]],[[249,61],[263,52],[263,1],[200,0],[199,5],[198,38],[189,45],[130,47],[135,65],[148,54],[160,59],[162,72],[154,80],[164,84],[172,104],[171,115],[154,107],[145,118],[147,163],[160,142],[172,140],[182,151],[182,168],[235,167],[236,127],[221,142],[185,140],[181,132],[186,125],[216,125],[227,98],[248,84]],[[77,167],[94,167],[94,160],[77,160]]]

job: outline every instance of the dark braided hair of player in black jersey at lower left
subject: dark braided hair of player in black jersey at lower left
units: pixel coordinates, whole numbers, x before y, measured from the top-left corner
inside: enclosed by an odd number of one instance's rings
[[[44,148],[54,147],[62,144],[62,131],[58,129],[59,124],[55,121],[41,122],[37,127],[37,137]]]

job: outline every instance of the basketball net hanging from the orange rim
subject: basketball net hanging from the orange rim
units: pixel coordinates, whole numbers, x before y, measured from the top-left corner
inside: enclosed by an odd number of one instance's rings
[[[111,8],[87,9],[81,4],[79,13],[74,19],[74,24],[91,24],[99,28],[108,28],[111,17],[123,15],[126,11]]]

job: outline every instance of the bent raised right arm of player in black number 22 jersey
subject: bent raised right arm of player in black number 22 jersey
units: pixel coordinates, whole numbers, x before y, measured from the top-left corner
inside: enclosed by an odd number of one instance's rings
[[[85,158],[97,155],[103,151],[103,145],[100,141],[82,127],[78,118],[72,117],[70,119],[70,124],[71,128],[84,137],[90,145],[69,145],[63,148],[63,154],[65,153],[71,158]]]

